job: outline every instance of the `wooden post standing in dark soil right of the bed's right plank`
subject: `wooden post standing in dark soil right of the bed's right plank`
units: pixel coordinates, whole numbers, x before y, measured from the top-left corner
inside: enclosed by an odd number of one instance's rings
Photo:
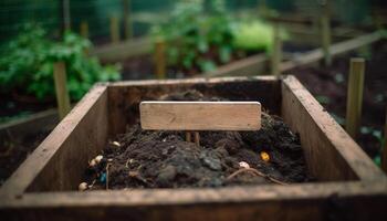
[[[364,72],[364,59],[351,59],[345,128],[353,138],[356,138],[360,126]]]

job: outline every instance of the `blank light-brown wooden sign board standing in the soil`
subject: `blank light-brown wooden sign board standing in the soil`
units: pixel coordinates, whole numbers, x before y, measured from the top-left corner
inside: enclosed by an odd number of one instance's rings
[[[258,130],[259,102],[142,102],[143,129]]]

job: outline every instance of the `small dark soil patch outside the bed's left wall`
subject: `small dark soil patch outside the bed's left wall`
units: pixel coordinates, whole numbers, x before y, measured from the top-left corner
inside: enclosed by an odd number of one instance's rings
[[[50,130],[40,131],[23,138],[9,135],[0,141],[0,186],[49,134]]]

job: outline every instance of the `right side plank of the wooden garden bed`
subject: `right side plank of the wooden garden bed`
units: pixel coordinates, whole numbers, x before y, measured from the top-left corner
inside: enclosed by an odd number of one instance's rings
[[[300,134],[308,170],[318,180],[377,180],[385,177],[294,76],[283,80],[282,96],[282,117],[293,131]]]

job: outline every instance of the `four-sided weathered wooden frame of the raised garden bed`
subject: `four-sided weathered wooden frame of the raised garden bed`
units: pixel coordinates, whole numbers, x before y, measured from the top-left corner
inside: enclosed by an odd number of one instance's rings
[[[191,88],[280,115],[300,134],[318,182],[75,191],[87,161],[138,117],[140,101]],[[96,85],[0,191],[4,220],[378,220],[387,202],[384,173],[293,76]]]

